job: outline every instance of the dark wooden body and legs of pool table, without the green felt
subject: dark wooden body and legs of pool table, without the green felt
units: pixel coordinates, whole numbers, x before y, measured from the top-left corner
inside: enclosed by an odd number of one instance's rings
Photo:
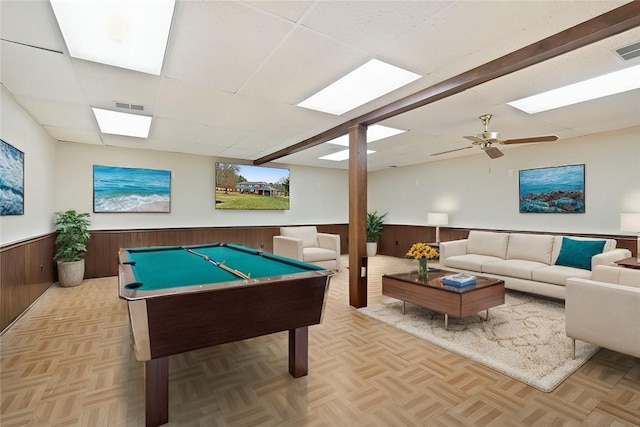
[[[333,272],[237,280],[131,293],[126,250],[119,253],[120,296],[129,306],[136,359],[145,362],[147,426],[169,421],[169,356],[289,331],[289,373],[308,372],[308,326],[322,321]]]

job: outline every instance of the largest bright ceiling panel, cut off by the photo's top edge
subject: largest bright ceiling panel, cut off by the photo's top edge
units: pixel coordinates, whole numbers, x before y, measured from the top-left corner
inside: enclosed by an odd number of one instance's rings
[[[74,58],[160,75],[175,0],[50,0]]]

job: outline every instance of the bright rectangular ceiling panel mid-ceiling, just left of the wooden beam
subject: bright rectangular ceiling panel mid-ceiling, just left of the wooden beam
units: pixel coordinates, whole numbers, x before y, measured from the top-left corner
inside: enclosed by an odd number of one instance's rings
[[[393,92],[421,76],[372,59],[298,104],[299,107],[341,115]]]

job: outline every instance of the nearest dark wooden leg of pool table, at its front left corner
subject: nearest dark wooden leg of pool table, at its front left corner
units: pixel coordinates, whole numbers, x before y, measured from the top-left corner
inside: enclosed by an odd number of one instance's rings
[[[169,358],[144,362],[145,420],[147,427],[169,422]]]

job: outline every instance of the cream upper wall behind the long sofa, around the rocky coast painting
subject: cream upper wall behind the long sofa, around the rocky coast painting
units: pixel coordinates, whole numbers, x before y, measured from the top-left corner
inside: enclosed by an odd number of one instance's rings
[[[501,147],[502,149],[502,147]],[[621,212],[640,212],[640,127],[478,154],[369,174],[370,210],[387,223],[426,225],[427,212],[449,213],[452,227],[626,234]],[[522,214],[518,171],[585,164],[584,214]]]

